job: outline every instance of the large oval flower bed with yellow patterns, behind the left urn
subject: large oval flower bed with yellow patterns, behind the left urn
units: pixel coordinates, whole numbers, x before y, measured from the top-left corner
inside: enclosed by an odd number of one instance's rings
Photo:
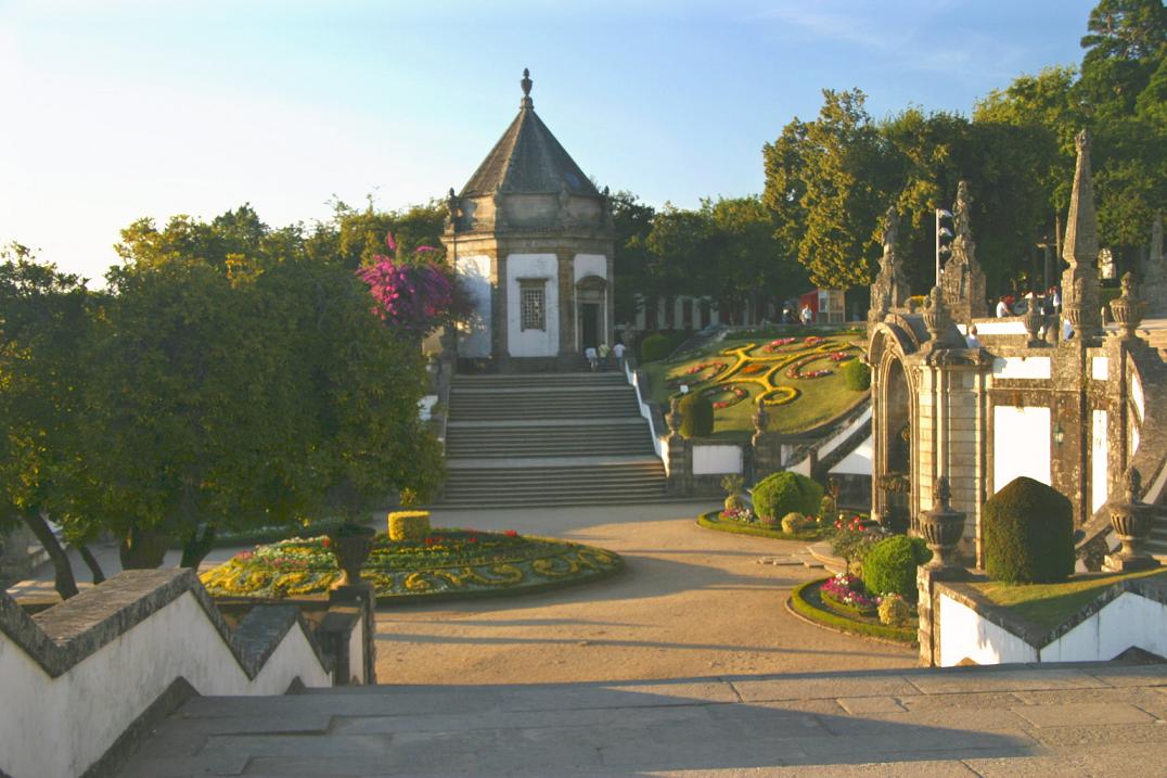
[[[377,535],[362,578],[378,602],[517,593],[594,581],[619,571],[612,551],[513,530],[434,529],[419,541]],[[259,546],[200,576],[207,590],[228,597],[324,595],[340,578],[327,537]]]

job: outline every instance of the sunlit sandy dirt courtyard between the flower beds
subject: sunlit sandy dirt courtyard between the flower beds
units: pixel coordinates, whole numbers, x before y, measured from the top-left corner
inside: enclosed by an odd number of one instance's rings
[[[544,683],[904,668],[914,650],[841,635],[785,610],[822,570],[761,564],[804,544],[697,526],[717,503],[434,510],[435,527],[517,529],[624,557],[605,582],[513,598],[380,609],[382,683]]]

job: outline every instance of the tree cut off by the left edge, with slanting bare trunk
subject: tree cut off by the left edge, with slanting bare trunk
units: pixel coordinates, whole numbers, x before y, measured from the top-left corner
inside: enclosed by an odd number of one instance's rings
[[[14,521],[29,528],[68,599],[77,584],[47,516],[75,508],[67,484],[77,458],[88,292],[26,246],[0,256],[0,529]]]

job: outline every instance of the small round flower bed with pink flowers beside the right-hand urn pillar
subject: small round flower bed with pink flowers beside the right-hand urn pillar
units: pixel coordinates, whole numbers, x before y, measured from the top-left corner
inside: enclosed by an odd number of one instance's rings
[[[829,630],[915,645],[915,612],[910,613],[911,620],[907,626],[882,624],[876,610],[879,599],[862,591],[858,578],[840,574],[798,586],[787,602],[787,607],[808,621]]]

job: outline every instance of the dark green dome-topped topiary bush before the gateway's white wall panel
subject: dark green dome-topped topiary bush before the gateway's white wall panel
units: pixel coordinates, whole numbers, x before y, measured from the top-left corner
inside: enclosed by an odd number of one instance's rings
[[[1032,478],[1015,478],[981,509],[985,572],[1008,583],[1056,583],[1074,572],[1074,507]]]

